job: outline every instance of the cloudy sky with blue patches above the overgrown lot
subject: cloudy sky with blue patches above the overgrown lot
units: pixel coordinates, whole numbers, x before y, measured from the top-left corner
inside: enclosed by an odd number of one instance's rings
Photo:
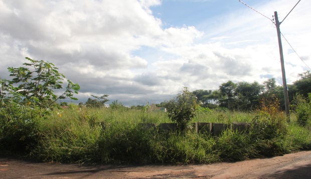
[[[229,80],[281,85],[272,15],[281,22],[298,0],[242,2],[257,12],[236,0],[0,0],[0,78],[25,57],[44,60],[80,85],[72,102],[108,94],[126,106]],[[282,37],[287,84],[311,67],[309,7],[280,25],[294,49]]]

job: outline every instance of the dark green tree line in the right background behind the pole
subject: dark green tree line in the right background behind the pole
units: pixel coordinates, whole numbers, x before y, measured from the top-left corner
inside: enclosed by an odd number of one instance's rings
[[[298,74],[300,77],[288,86],[289,102],[296,95],[307,97],[311,93],[311,73],[310,71]],[[263,84],[254,81],[234,83],[229,80],[222,83],[217,90],[199,89],[192,92],[202,107],[216,108],[223,107],[229,110],[247,111],[257,109],[260,102],[278,99],[280,108],[284,109],[283,87],[276,84],[275,78],[270,78]]]

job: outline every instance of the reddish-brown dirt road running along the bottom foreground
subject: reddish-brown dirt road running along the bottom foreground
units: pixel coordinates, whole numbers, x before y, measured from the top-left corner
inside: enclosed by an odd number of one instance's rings
[[[207,165],[38,163],[0,155],[0,178],[311,178],[311,151]]]

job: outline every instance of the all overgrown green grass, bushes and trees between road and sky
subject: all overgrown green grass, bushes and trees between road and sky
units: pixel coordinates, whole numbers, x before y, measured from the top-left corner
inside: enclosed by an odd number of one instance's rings
[[[33,62],[48,65],[42,61]],[[38,68],[43,67],[39,65],[36,68],[38,71]],[[51,70],[53,69],[55,70]],[[26,69],[14,73],[24,72],[32,74]],[[43,79],[37,80],[46,79],[45,75],[41,78]],[[36,79],[29,78],[29,81],[32,81],[30,89],[45,89],[43,86],[36,86],[39,83]],[[291,122],[287,123],[279,97],[272,93],[273,81],[270,82],[267,83],[267,89],[271,93],[267,91],[265,98],[261,98],[259,105],[251,111],[232,111],[229,110],[230,107],[210,109],[203,102],[200,106],[195,93],[184,88],[176,98],[161,104],[167,106],[169,112],[165,113],[148,110],[148,104],[127,108],[117,100],[105,107],[107,95],[93,96],[96,99],[88,100],[89,105],[86,106],[83,103],[70,103],[68,108],[60,108],[58,104],[49,103],[55,99],[50,94],[53,93],[52,89],[46,89],[50,93],[33,91],[26,94],[22,92],[26,86],[16,87],[12,81],[1,80],[0,152],[19,153],[53,162],[188,164],[235,161],[311,149],[311,94],[307,98],[304,95],[295,97]],[[258,86],[255,82],[239,83],[237,87],[240,85],[247,88]],[[49,86],[46,85],[47,88]],[[230,95],[235,89],[240,91],[247,104],[253,106],[253,93],[242,93],[242,88],[232,88],[233,86],[233,82],[223,85],[227,95],[223,98],[224,104],[234,104],[231,102],[237,98]],[[67,88],[65,91],[72,94],[78,90],[78,85],[74,88],[74,91],[67,91]],[[216,94],[210,94],[213,93]],[[35,97],[37,94],[43,97]],[[210,102],[206,101],[204,104]],[[183,135],[175,130],[163,132],[158,127],[152,127],[153,124],[169,123],[172,120],[179,123],[180,129],[184,131]],[[250,124],[250,128],[248,131],[238,131],[228,127],[216,136],[209,132],[194,132],[193,128],[186,127],[191,122],[246,122]]]

